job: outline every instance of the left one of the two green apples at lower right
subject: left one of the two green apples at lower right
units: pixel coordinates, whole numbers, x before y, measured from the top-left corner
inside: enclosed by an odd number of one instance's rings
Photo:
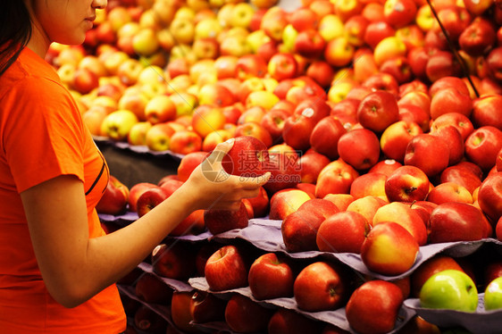
[[[423,284],[420,305],[425,308],[474,312],[478,306],[478,290],[463,271],[439,271]]]

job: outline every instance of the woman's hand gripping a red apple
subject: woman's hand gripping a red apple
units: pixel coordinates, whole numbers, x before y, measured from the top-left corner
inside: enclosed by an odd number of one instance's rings
[[[238,210],[243,198],[258,196],[260,187],[270,179],[270,172],[255,178],[227,173],[222,167],[222,158],[233,143],[234,140],[230,139],[216,146],[183,184],[182,188],[195,205],[194,210]]]

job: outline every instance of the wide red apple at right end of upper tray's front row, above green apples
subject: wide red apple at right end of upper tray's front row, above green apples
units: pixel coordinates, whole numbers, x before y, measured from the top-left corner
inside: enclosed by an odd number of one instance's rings
[[[438,205],[429,218],[429,242],[480,240],[486,235],[480,209],[460,202]]]

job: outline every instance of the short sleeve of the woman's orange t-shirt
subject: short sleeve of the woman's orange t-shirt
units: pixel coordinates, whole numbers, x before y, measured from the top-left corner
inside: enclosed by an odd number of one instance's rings
[[[17,191],[63,174],[84,180],[84,124],[70,92],[50,79],[27,78],[9,93],[4,150]]]

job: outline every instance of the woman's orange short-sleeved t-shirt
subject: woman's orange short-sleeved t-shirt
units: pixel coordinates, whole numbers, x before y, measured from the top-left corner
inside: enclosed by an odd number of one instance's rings
[[[89,237],[104,235],[95,206],[109,177],[105,159],[57,73],[26,47],[0,77],[3,333],[116,334],[125,330],[126,316],[115,285],[82,305],[65,308],[49,295],[38,270],[19,194],[63,174],[76,175],[84,183]]]

